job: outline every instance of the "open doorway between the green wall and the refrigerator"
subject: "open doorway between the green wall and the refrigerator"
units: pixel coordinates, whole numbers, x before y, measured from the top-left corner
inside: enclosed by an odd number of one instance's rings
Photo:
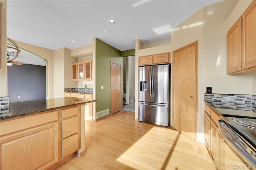
[[[135,55],[123,58],[123,110],[135,112]]]

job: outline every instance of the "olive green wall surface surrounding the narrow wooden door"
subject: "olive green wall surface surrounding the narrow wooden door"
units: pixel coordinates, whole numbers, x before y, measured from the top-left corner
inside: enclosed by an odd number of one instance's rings
[[[123,84],[123,58],[121,51],[96,38],[96,113],[109,109],[111,113],[110,62],[121,65],[121,88]],[[104,86],[101,90],[100,86]],[[122,99],[121,99],[122,100]]]

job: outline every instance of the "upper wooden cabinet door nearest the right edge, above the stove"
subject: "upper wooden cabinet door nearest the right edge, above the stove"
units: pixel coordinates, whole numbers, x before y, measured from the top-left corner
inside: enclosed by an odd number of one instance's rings
[[[256,67],[256,1],[243,14],[243,69]]]

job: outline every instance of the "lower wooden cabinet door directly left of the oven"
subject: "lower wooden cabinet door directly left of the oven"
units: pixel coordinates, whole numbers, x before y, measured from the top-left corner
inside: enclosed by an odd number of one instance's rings
[[[218,126],[215,125],[213,121],[211,121],[211,129],[212,129],[212,136],[211,136],[211,156],[214,162],[214,165],[217,170],[219,170],[219,162],[220,162],[220,135]]]

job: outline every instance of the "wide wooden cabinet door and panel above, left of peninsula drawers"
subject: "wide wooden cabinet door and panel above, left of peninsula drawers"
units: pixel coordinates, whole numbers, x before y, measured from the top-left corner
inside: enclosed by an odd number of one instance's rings
[[[0,127],[0,169],[46,169],[58,162],[57,111],[1,122]]]

